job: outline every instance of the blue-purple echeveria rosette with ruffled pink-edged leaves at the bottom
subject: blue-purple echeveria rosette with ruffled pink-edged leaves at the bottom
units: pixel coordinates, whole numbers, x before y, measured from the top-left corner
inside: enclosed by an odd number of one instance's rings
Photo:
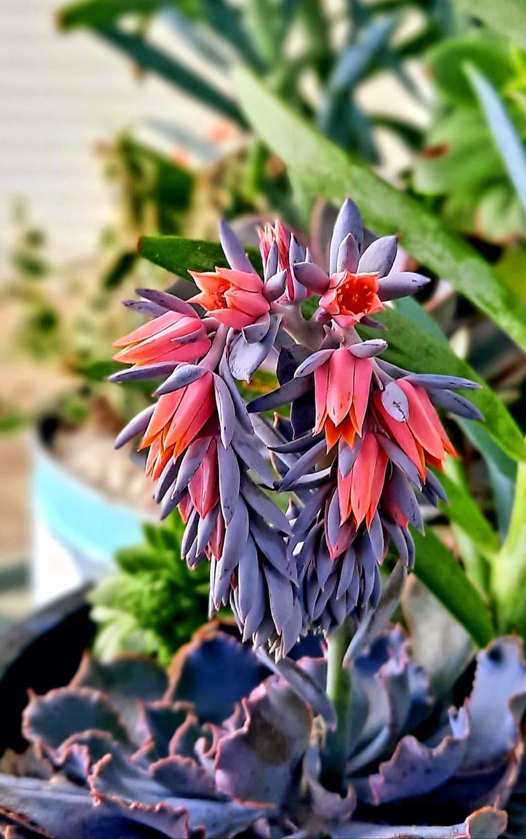
[[[322,692],[327,661],[313,652],[271,674],[250,647],[209,627],[176,656],[169,679],[147,659],[86,657],[69,687],[30,697],[30,746],[3,758],[0,831],[24,839],[503,833],[500,808],[523,748],[518,638],[477,655],[468,696],[452,708],[451,691],[436,700],[400,628],[354,644],[343,795],[324,785],[333,719]],[[291,672],[302,681],[287,680]],[[451,818],[457,823],[445,826]]]

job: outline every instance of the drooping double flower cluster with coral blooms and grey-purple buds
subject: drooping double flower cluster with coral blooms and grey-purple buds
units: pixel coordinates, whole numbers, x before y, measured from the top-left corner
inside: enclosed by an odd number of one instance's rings
[[[383,328],[371,315],[427,279],[397,270],[396,237],[365,234],[352,201],[327,271],[279,222],[260,230],[263,279],[225,222],[219,236],[229,268],[189,271],[192,300],[143,289],[128,301],[152,320],[116,342],[132,367],[113,378],[167,378],[117,445],[142,435],[162,516],[178,506],[188,564],[209,560],[210,612],[230,602],[243,638],[279,658],[308,628],[375,606],[390,542],[413,564],[420,495],[446,500],[430,467],[456,456],[436,407],[480,419],[456,393],[477,384],[394,367],[386,341],[360,339],[358,322]],[[236,379],[264,362],[280,387],[247,405]],[[260,415],[286,404],[288,419]],[[293,493],[286,515],[267,490]]]

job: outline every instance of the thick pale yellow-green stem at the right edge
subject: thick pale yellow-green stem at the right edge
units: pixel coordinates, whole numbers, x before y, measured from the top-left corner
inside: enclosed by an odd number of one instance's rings
[[[526,635],[526,463],[519,463],[508,534],[492,566],[498,628]]]

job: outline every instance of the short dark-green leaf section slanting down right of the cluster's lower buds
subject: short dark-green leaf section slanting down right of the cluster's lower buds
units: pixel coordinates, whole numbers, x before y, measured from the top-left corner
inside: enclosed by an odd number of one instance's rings
[[[475,643],[485,647],[495,635],[487,601],[431,529],[426,530],[425,536],[413,530],[412,536],[416,547],[415,575],[462,623]]]

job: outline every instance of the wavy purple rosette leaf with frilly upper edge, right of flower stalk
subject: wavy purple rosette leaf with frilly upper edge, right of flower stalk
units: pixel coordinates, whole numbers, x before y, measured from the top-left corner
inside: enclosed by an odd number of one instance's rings
[[[452,734],[435,748],[416,737],[403,737],[392,758],[380,763],[378,774],[369,775],[370,797],[374,805],[425,795],[450,779],[462,763],[469,736],[469,717],[465,708],[451,712]]]

